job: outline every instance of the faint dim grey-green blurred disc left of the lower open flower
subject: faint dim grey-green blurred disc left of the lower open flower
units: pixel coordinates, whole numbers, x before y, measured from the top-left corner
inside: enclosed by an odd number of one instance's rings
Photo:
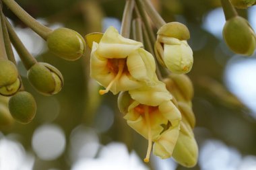
[[[106,132],[114,123],[114,112],[107,105],[100,106],[96,115],[94,128],[98,132]]]

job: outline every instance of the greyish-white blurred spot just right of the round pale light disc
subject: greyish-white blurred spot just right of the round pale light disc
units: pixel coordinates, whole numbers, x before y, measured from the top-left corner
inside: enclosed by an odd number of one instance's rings
[[[82,158],[93,158],[100,147],[98,135],[92,128],[77,126],[70,136],[69,156],[72,162]]]

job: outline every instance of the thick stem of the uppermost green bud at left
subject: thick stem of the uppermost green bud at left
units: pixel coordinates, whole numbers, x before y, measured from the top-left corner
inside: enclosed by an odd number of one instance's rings
[[[5,3],[5,5],[7,5],[7,7],[9,7],[9,9],[11,9],[11,11],[13,11],[13,13],[15,13],[15,15],[17,15],[22,20],[22,22],[24,22],[28,27],[34,30],[34,32],[36,32],[36,34],[41,36],[44,40],[46,40],[49,34],[53,32],[53,30],[51,30],[50,28],[43,26],[38,21],[36,21],[34,17],[29,15],[14,0],[2,0],[2,1]]]

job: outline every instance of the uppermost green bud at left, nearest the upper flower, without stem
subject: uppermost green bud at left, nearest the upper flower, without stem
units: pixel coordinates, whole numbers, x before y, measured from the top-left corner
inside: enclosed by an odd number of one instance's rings
[[[65,60],[77,60],[84,54],[84,38],[68,28],[58,28],[47,38],[49,50]]]

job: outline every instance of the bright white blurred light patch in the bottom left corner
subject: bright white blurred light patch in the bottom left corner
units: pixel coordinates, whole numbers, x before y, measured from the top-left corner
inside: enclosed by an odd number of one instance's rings
[[[0,169],[29,170],[34,165],[34,157],[26,155],[22,144],[2,138],[0,140]]]

